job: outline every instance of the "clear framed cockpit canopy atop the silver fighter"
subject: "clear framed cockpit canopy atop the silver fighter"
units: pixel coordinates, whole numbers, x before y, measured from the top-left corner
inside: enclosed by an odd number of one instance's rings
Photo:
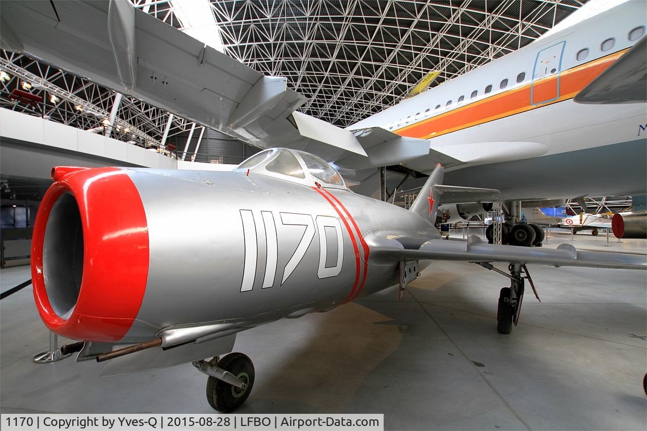
[[[258,173],[268,177],[279,178],[285,181],[296,182],[307,186],[315,183],[327,188],[342,188],[346,184],[342,175],[339,175],[331,164],[325,160],[289,148],[270,148],[261,151],[239,164],[235,171]]]

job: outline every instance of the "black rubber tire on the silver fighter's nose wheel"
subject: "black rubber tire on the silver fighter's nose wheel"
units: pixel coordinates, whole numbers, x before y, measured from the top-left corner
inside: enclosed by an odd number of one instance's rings
[[[243,353],[230,353],[218,361],[218,367],[247,382],[247,388],[240,390],[234,386],[209,376],[206,381],[206,401],[215,410],[230,413],[239,408],[254,386],[254,364]]]

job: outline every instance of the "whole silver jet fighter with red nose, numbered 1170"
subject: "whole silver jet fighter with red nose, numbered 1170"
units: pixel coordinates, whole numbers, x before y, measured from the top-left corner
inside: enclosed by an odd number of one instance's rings
[[[441,166],[410,210],[355,194],[330,164],[286,148],[229,172],[59,167],[52,178],[32,277],[47,327],[80,340],[63,349],[110,360],[103,375],[193,362],[209,375],[208,402],[224,412],[254,384],[247,356],[219,357],[237,332],[393,285],[401,295],[431,260],[472,261],[510,279],[499,297],[502,333],[518,320],[527,263],[646,268],[644,256],[569,245],[441,239],[432,223]]]

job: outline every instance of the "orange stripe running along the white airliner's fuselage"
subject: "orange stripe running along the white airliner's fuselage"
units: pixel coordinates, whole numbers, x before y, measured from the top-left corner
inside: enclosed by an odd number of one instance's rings
[[[477,126],[506,116],[531,111],[538,107],[552,105],[571,99],[613,64],[627,49],[608,56],[571,67],[560,72],[560,96],[545,104],[531,105],[532,83],[495,94],[478,102],[468,104],[447,113],[395,130],[400,136],[411,138],[435,138],[446,133]],[[534,93],[549,93],[556,86],[557,75],[542,78],[534,83]],[[553,91],[554,92],[554,91]]]

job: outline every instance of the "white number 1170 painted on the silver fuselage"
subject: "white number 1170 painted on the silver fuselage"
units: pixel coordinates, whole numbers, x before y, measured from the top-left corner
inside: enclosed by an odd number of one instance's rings
[[[252,210],[240,210],[240,213],[241,220],[243,221],[243,236],[245,237],[245,265],[243,267],[241,292],[251,291],[254,287],[254,280],[256,280],[256,263],[258,261],[257,226],[259,226],[259,229],[265,230],[265,241],[267,244],[265,273],[263,275],[261,289],[272,287],[278,265],[278,236],[276,234],[274,214],[271,211],[255,213]],[[338,276],[342,271],[342,263],[344,263],[344,236],[342,235],[342,225],[339,223],[339,220],[331,216],[316,216],[313,220],[311,214],[296,214],[293,212],[280,212],[279,215],[281,217],[281,225],[305,227],[296,249],[294,249],[291,258],[283,268],[281,285],[287,281],[292,272],[294,272],[294,269],[302,261],[317,232],[319,234],[319,267],[317,276],[318,278]],[[336,263],[331,267],[325,265],[329,252],[325,232],[325,228],[327,227],[334,229],[337,240]]]

